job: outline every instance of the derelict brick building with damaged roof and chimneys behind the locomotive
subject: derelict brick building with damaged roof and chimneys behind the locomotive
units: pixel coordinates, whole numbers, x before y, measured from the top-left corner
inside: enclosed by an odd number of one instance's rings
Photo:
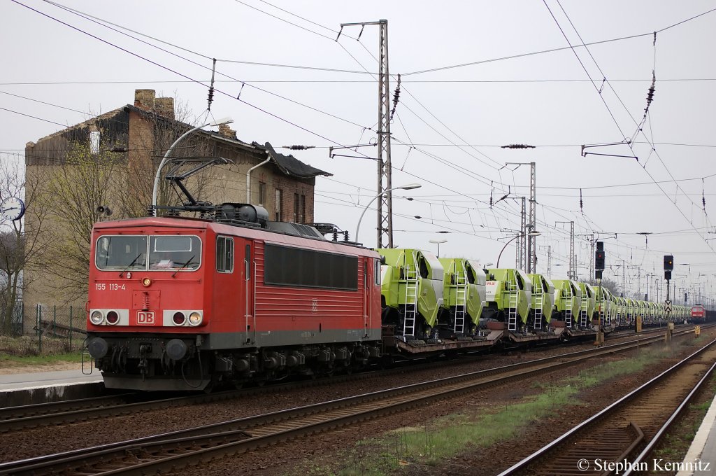
[[[156,167],[170,144],[191,128],[192,125],[175,118],[172,97],[156,97],[154,90],[136,90],[133,104],[27,143],[26,175],[32,177],[44,173],[52,177],[63,173],[73,166],[72,159],[68,158],[71,157],[70,151],[80,145],[87,151],[85,156],[97,157],[97,161],[101,157],[101,160],[111,162],[111,185],[108,187],[112,188],[112,194],[103,196],[105,201],[101,205],[112,209],[113,214],[105,219],[144,215],[152,201]],[[227,159],[225,165],[206,168],[198,176],[188,179],[187,188],[197,199],[215,204],[246,201],[259,204],[269,211],[270,219],[281,222],[314,222],[316,176],[332,175],[294,156],[276,152],[270,143],[243,142],[228,125],[220,126],[218,132],[196,131],[185,138],[171,156]],[[250,169],[249,181],[247,173]],[[165,171],[166,168],[163,169]],[[45,181],[34,183],[43,186]],[[248,200],[247,184],[250,187]],[[169,194],[160,196],[159,204],[168,203],[168,197]],[[58,203],[50,208],[62,206]],[[92,206],[94,204],[89,204],[87,208]],[[67,228],[53,226],[52,219],[52,216],[47,216],[42,227],[53,233],[57,233],[59,228]],[[26,227],[32,229],[37,223],[37,216],[32,214],[32,204],[29,204]],[[59,219],[57,223],[60,223]],[[68,300],[67,295],[63,295],[62,282],[58,282],[62,281],[62,272],[54,271],[26,271],[29,284],[24,294],[25,302],[34,305],[69,301],[74,305],[84,305],[84,296]],[[38,272],[39,275],[33,276]],[[74,287],[79,287],[78,283],[79,280]],[[64,288],[67,289],[66,286]],[[80,294],[86,295],[86,287]]]

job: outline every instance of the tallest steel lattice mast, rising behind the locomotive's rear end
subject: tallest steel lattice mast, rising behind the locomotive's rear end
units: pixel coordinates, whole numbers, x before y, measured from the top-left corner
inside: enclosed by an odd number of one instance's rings
[[[378,194],[377,247],[393,247],[392,164],[390,161],[390,75],[388,73],[388,21],[342,23],[343,27],[378,25]],[[362,30],[361,30],[362,31]],[[340,32],[338,36],[340,37]],[[338,38],[337,38],[338,39]],[[386,191],[382,194],[382,191]],[[357,239],[357,237],[356,237]],[[387,244],[387,246],[386,246]]]

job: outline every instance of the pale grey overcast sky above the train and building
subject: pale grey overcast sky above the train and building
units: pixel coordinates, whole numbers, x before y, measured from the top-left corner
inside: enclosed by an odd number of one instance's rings
[[[589,234],[575,242],[581,279],[595,233],[605,277],[621,282],[626,264],[629,292],[645,292],[647,274],[663,277],[662,257],[674,254],[677,290],[713,298],[713,9],[716,1],[5,0],[0,158],[132,103],[136,88],[175,96],[203,120],[216,58],[213,116],[231,116],[243,141],[315,146],[294,152],[334,174],[316,178],[315,219],[353,234],[377,193],[377,151],[329,158],[328,148],[375,142],[379,28],[346,27],[336,39],[342,23],[387,19],[391,91],[401,75],[393,185],[422,184],[395,191],[398,247],[435,252],[430,240],[446,239],[442,256],[495,262],[529,191],[528,166],[503,166],[534,161],[539,272],[550,246],[552,277],[566,276],[569,224],[557,222],[574,221],[576,234]],[[581,156],[582,144],[623,141],[632,146],[586,149],[614,156]],[[500,148],[513,143],[536,148]],[[359,241],[374,246],[374,228],[369,210]],[[500,266],[513,265],[513,244]]]

